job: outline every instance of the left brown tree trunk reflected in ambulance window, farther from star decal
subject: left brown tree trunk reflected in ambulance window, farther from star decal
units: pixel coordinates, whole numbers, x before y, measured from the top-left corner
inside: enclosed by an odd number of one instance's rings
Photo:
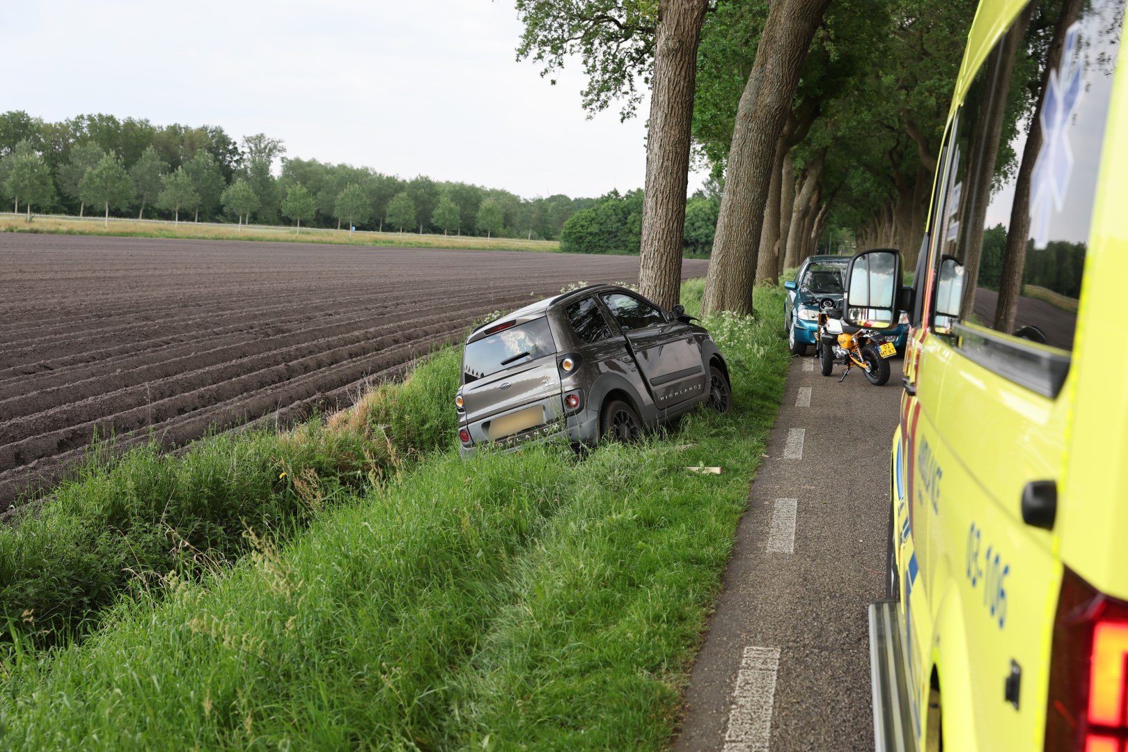
[[[990,188],[995,179],[995,158],[998,156],[998,141],[1003,133],[1003,118],[1006,112],[1006,91],[1011,89],[1011,76],[1014,72],[1014,55],[1019,48],[1019,43],[1025,34],[1026,25],[1030,23],[1030,15],[1033,9],[1028,7],[1022,12],[1011,33],[1003,42],[999,51],[997,72],[990,69],[996,68],[988,62],[988,78],[990,81],[987,101],[988,109],[979,114],[971,131],[971,143],[982,144],[982,149],[972,148],[969,154],[968,178],[963,185],[964,201],[968,211],[962,213],[963,228],[961,237],[963,239],[963,269],[964,289],[963,302],[960,306],[960,318],[964,321],[971,319],[975,312],[976,286],[979,282],[979,262],[982,257],[982,225],[987,216],[987,206],[990,204]]]

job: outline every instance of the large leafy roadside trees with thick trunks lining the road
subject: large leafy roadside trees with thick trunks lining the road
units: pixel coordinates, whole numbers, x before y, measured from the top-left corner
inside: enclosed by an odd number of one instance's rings
[[[710,206],[685,201],[691,157],[723,183],[705,310],[751,310],[828,228],[919,244],[975,0],[517,0],[519,56],[583,59],[583,106],[634,114],[651,89],[641,289],[677,300],[681,249]],[[642,87],[640,87],[640,81]]]

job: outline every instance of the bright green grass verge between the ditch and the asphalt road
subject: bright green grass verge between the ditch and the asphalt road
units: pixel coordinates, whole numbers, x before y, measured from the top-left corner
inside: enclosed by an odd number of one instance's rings
[[[233,568],[122,599],[82,645],[6,662],[0,738],[663,747],[783,392],[782,291],[756,308],[770,316],[707,321],[733,414],[583,460],[448,451],[389,474],[285,545],[256,537]]]

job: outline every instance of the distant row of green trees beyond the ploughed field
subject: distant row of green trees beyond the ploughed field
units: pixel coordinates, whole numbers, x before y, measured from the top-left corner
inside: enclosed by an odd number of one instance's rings
[[[217,126],[108,115],[49,123],[24,112],[0,115],[0,197],[28,214],[85,215],[97,207],[105,218],[126,211],[174,221],[185,213],[239,223],[284,218],[296,225],[546,240],[596,203],[287,158],[281,140],[256,134],[237,142]]]

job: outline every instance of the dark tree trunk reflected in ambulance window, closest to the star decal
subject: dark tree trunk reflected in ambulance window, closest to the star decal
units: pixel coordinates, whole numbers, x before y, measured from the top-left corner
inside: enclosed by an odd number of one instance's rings
[[[1065,46],[1065,32],[1077,19],[1081,11],[1081,0],[1069,0],[1061,8],[1054,39],[1046,55],[1046,70],[1042,72],[1041,91],[1046,91],[1046,82],[1050,71],[1057,70],[1061,63],[1061,50]],[[1034,106],[1030,118],[1030,131],[1026,145],[1022,150],[1022,163],[1014,183],[1014,203],[1011,204],[1011,221],[1006,229],[1006,246],[1003,249],[1003,269],[998,283],[998,302],[995,308],[994,328],[998,331],[1014,331],[1014,319],[1019,313],[1019,297],[1022,294],[1022,272],[1026,266],[1026,246],[1030,237],[1030,179],[1038,161],[1038,152],[1042,149],[1042,103],[1045,94]]]

